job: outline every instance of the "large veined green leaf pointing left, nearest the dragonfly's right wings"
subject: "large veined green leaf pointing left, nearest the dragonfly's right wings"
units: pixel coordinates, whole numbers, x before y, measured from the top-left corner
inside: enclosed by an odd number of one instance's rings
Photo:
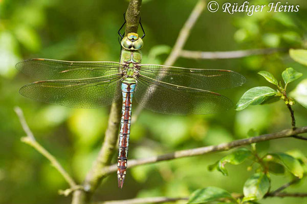
[[[235,110],[240,111],[248,107],[249,105],[258,105],[264,101],[270,99],[270,96],[273,96],[277,93],[276,90],[267,87],[259,86],[249,89],[243,94],[236,104]]]

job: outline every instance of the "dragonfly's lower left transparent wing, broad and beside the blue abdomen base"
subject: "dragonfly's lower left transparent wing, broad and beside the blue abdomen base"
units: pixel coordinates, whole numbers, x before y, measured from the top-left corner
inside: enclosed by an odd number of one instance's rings
[[[19,93],[34,100],[71,108],[98,108],[120,96],[121,75],[93,79],[47,80],[27,84]]]

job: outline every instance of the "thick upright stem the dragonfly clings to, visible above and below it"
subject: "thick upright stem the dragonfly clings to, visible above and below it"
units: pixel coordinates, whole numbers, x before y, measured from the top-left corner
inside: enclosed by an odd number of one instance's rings
[[[125,34],[130,32],[137,33],[140,10],[142,0],[130,0],[126,11],[126,28]],[[83,182],[84,191],[76,190],[73,194],[72,204],[84,204],[89,202],[94,191],[101,183],[103,174],[101,169],[111,163],[112,157],[116,150],[116,142],[119,135],[119,124],[121,115],[121,101],[116,101],[112,104],[111,112],[109,114],[108,126],[105,132],[104,141],[99,151],[99,155],[95,160],[91,170],[86,174]]]

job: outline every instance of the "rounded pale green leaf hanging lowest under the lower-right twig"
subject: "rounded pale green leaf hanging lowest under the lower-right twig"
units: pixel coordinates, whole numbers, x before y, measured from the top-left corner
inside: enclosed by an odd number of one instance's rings
[[[243,201],[260,200],[270,189],[270,180],[262,172],[253,174],[244,184]]]

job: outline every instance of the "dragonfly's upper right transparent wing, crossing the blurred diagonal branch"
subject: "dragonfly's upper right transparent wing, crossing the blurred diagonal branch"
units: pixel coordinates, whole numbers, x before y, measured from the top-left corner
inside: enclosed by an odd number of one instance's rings
[[[188,69],[163,65],[143,64],[140,74],[159,81],[195,89],[221,90],[246,82],[243,75],[223,69]]]

